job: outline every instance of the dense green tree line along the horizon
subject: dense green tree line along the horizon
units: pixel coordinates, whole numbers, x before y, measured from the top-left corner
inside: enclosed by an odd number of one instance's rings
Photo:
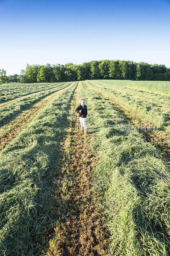
[[[6,76],[0,69],[1,82],[69,82],[86,79],[121,79],[121,80],[155,80],[170,81],[170,68],[165,65],[136,63],[126,60],[101,60],[85,62],[81,65],[29,65],[21,74]]]

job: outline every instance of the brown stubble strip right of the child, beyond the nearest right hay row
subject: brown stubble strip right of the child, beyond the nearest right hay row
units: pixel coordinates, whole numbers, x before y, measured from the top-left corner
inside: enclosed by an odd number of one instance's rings
[[[135,125],[138,127],[139,131],[145,135],[147,141],[152,142],[155,146],[158,146],[163,152],[170,157],[170,135],[167,132],[151,130],[144,131],[142,127],[151,127],[151,129],[155,126],[151,123],[151,121],[143,116],[140,116],[139,113],[134,112],[132,109],[124,108],[120,102],[118,102],[115,98],[110,97],[108,94],[100,92],[97,89],[92,88],[88,83],[85,83],[87,87],[98,92],[102,97],[108,100],[109,103],[114,105],[114,108],[121,113],[124,117],[126,117],[126,122],[130,125]]]

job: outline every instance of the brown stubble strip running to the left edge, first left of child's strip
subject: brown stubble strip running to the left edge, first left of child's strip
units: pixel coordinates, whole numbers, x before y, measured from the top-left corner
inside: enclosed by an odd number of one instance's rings
[[[33,106],[27,110],[22,111],[22,113],[17,116],[10,123],[5,124],[0,129],[0,150],[4,149],[6,145],[13,140],[18,133],[20,133],[26,126],[33,121],[33,118],[41,111],[42,108],[45,108],[47,104],[53,100],[58,94],[63,90],[68,89],[72,84],[66,88],[57,91],[38,103],[33,104]]]

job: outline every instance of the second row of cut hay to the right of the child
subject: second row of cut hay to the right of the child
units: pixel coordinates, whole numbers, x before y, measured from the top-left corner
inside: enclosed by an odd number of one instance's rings
[[[126,92],[119,92],[110,87],[103,87],[98,83],[94,84],[93,82],[88,81],[88,84],[90,87],[99,90],[108,97],[114,98],[124,110],[127,110],[127,114],[130,111],[133,111],[134,122],[135,119],[146,119],[145,122],[148,122],[146,123],[146,127],[153,126],[155,127],[154,129],[170,132],[170,108],[166,109],[159,106],[154,106],[152,103],[138,100],[133,96],[130,97],[126,94]],[[170,100],[168,102],[170,104]],[[136,125],[139,125],[137,120]]]

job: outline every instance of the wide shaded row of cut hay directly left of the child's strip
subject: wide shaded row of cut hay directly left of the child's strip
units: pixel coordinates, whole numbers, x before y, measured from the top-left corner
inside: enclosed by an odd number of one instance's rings
[[[0,155],[0,255],[39,255],[56,221],[53,184],[70,100],[63,91]]]

